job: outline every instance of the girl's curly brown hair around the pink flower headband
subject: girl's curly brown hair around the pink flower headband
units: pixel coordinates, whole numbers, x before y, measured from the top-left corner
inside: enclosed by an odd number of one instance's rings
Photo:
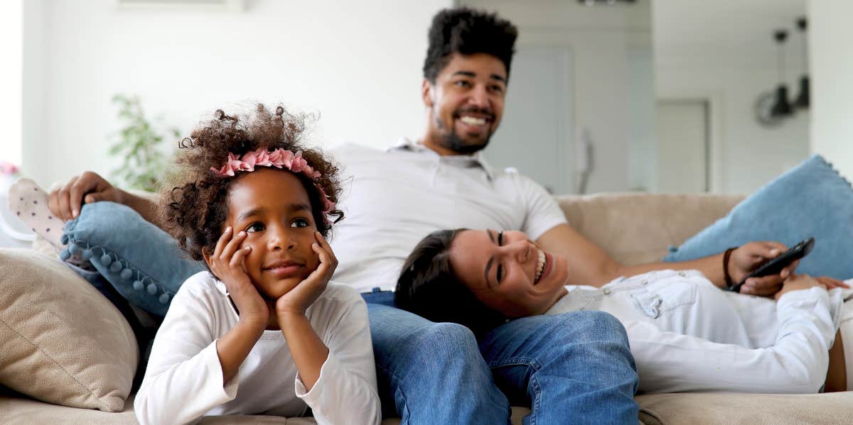
[[[277,106],[276,112],[271,113],[264,105],[258,104],[253,114],[241,117],[229,116],[218,110],[213,119],[202,123],[189,137],[178,142],[183,152],[178,153],[177,169],[161,193],[160,221],[194,260],[201,261],[203,252],[215,250],[228,217],[225,200],[229,187],[246,174],[238,171],[229,177],[219,175],[211,168],[220,169],[229,153],[239,156],[258,148],[302,151],[308,165],[321,173],[314,180],[301,173],[293,175],[302,181],[305,192],[308,192],[317,231],[328,238],[331,223],[322,213],[324,203],[317,186],[322,187],[328,199],[336,203],[340,192],[338,167],[324,158],[322,152],[301,146],[306,119],[307,115],[293,115],[283,106]],[[333,210],[328,215],[336,217],[333,222],[344,218],[341,210]]]

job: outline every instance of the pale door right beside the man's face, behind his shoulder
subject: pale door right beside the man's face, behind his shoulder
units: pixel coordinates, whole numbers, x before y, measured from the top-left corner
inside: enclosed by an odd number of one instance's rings
[[[500,127],[485,149],[497,168],[514,167],[554,194],[572,193],[572,51],[519,45]]]

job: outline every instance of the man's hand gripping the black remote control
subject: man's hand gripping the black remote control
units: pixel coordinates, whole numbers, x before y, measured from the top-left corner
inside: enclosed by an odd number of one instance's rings
[[[787,247],[778,242],[750,242],[740,245],[737,250],[732,251],[732,256],[728,259],[728,275],[732,277],[734,284],[737,284],[763,262],[779,256],[786,250]],[[740,293],[772,296],[779,291],[782,281],[790,276],[798,265],[799,260],[793,261],[778,274],[747,279],[740,288]]]

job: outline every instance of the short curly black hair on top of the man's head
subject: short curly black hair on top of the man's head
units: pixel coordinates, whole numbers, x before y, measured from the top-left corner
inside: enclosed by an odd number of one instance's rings
[[[444,9],[432,18],[429,29],[429,47],[424,60],[424,78],[435,83],[438,72],[458,53],[473,55],[485,53],[495,56],[507,68],[513,61],[515,38],[519,30],[497,14],[467,8]]]

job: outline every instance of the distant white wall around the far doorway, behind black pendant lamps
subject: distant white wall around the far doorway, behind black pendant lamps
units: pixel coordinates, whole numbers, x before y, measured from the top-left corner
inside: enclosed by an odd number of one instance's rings
[[[657,95],[661,99],[710,99],[711,192],[754,192],[808,157],[809,112],[798,112],[777,127],[759,125],[753,118],[753,106],[758,95],[772,89],[769,84],[775,81],[775,69],[738,64],[720,56],[709,59],[659,62],[655,66]],[[790,83],[788,90],[791,93]]]

